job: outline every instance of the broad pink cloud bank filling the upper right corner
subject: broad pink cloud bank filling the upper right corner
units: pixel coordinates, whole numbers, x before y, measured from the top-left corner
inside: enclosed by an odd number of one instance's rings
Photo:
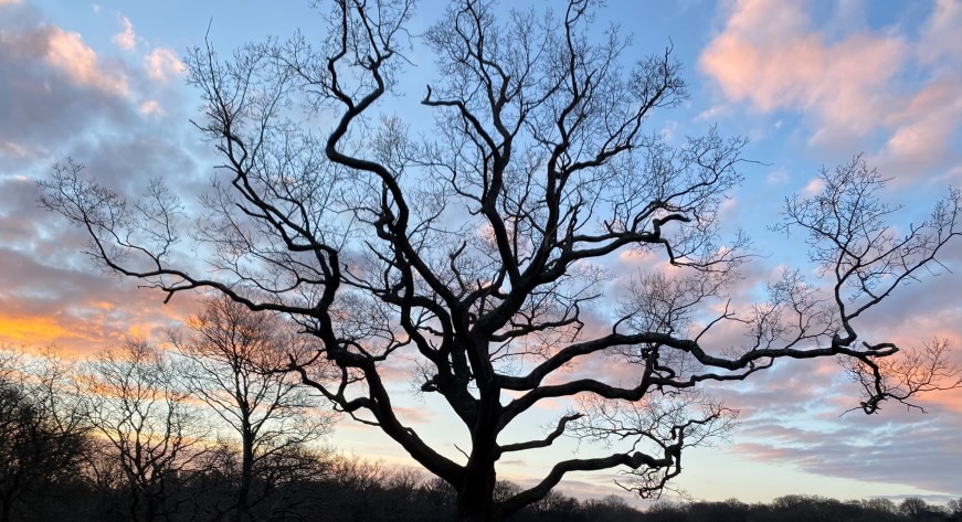
[[[801,113],[810,143],[849,152],[876,147],[881,134],[875,161],[906,178],[959,158],[962,2],[939,0],[916,35],[866,29],[858,10],[839,7],[826,22],[805,8],[738,0],[727,11],[699,66],[729,104]]]

